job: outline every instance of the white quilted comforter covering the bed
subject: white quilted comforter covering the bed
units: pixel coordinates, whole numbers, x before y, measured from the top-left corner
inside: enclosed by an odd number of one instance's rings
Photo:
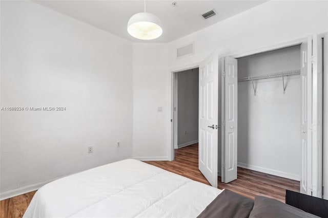
[[[196,217],[220,192],[129,159],[48,183],[23,217]]]

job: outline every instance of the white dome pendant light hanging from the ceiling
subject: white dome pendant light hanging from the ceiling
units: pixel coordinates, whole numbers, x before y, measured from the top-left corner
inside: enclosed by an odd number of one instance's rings
[[[135,38],[150,40],[158,38],[162,34],[161,23],[154,14],[146,12],[133,15],[128,22],[128,33]]]

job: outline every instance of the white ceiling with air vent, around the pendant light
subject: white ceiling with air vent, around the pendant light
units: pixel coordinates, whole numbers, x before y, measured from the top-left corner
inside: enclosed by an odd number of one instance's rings
[[[147,0],[146,12],[155,14],[161,20],[163,29],[163,34],[159,38],[149,41],[173,41],[267,1]],[[129,18],[135,13],[144,12],[144,1],[35,0],[34,2],[130,41],[145,42],[133,38],[127,32]],[[176,2],[175,7],[172,5],[173,2]],[[216,11],[216,15],[208,19],[202,18],[201,14],[211,9]]]

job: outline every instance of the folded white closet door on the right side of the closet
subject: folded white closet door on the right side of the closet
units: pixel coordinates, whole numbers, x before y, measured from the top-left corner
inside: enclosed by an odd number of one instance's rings
[[[301,45],[300,192],[322,198],[322,39]]]

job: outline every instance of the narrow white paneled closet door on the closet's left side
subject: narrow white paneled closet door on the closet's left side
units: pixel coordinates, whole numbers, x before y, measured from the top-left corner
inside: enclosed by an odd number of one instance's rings
[[[237,179],[237,59],[224,57],[222,68],[221,181],[229,183]]]

